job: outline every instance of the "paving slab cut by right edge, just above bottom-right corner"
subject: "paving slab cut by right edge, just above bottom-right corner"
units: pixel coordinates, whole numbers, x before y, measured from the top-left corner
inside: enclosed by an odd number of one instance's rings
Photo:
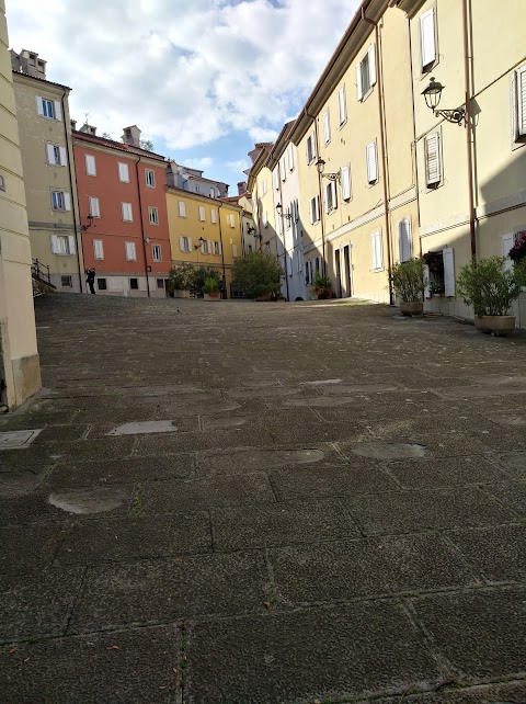
[[[413,605],[459,679],[504,679],[524,672],[524,588],[423,597]]]

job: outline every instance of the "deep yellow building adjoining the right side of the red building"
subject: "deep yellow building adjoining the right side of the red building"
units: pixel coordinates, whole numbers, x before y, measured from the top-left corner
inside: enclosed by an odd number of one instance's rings
[[[243,254],[242,208],[235,203],[168,186],[167,209],[172,264],[190,263],[217,270],[230,298],[232,265]]]

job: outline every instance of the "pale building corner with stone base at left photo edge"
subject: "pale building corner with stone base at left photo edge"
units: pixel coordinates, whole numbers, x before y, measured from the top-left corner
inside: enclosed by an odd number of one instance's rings
[[[5,5],[0,0],[0,407],[20,406],[41,388],[31,248]]]

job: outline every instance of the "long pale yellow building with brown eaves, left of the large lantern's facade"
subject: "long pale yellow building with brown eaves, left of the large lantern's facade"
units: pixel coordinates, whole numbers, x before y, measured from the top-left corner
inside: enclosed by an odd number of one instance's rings
[[[363,3],[290,134],[306,281],[378,302],[389,264],[420,253],[409,27],[390,4]]]

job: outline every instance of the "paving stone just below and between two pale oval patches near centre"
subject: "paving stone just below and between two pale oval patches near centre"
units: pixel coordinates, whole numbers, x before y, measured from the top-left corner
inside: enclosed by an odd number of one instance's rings
[[[281,500],[353,497],[398,488],[389,475],[359,457],[335,467],[276,469],[271,478]]]

